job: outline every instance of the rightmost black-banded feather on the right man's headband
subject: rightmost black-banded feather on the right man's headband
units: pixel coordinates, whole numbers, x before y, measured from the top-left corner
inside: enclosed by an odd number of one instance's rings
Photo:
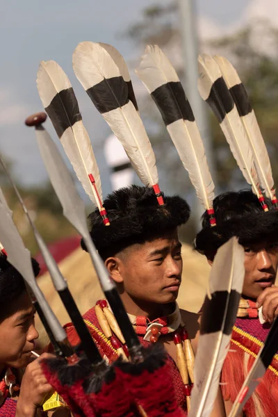
[[[231,97],[233,97],[236,104],[240,120],[243,123],[247,137],[250,140],[254,156],[254,164],[263,193],[265,193],[265,195],[272,200],[272,204],[278,206],[268,150],[266,149],[265,142],[263,140],[263,136],[261,135],[261,130],[256,120],[256,115],[251,106],[245,86],[240,81],[238,72],[236,72],[236,69],[233,65],[231,65],[227,58],[224,58],[223,56],[213,56],[213,58],[220,67],[224,81],[227,84]]]

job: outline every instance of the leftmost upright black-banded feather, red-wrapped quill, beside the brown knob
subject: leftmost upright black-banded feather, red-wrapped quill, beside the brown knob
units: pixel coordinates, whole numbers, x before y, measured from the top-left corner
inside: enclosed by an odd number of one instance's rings
[[[99,208],[104,224],[108,225],[102,204],[99,167],[70,80],[54,60],[42,61],[37,87],[44,110],[54,125],[76,176],[92,203]]]

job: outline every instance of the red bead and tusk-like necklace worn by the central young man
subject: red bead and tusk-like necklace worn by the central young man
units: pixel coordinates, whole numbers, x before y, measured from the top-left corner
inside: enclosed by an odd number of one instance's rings
[[[101,330],[104,332],[106,338],[111,342],[111,345],[117,351],[117,354],[119,356],[122,355],[122,359],[128,361],[129,351],[124,336],[122,335],[113,313],[109,309],[107,301],[98,300],[95,306],[95,312]],[[194,384],[193,368],[195,355],[191,341],[188,338],[186,327],[183,325],[183,322],[181,322],[179,306],[176,304],[174,313],[169,316],[163,316],[152,321],[143,316],[131,316],[130,314],[128,316],[136,334],[144,336],[145,341],[156,343],[161,334],[173,334],[173,341],[177,348],[177,367],[184,384],[184,394],[186,396],[186,404],[189,411],[190,393]]]

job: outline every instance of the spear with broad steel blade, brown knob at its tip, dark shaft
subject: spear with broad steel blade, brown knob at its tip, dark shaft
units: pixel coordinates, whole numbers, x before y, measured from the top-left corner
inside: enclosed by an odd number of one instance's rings
[[[40,154],[44,161],[44,165],[47,168],[52,186],[63,206],[65,218],[72,223],[75,229],[83,237],[99,277],[101,287],[122,330],[131,357],[138,359],[142,357],[142,345],[126,314],[120,295],[117,293],[115,283],[109,277],[108,270],[99,256],[95,245],[92,243],[92,238],[86,222],[85,204],[77,193],[74,181],[72,180],[70,172],[65,165],[63,158],[60,156],[56,145],[49,136],[49,133],[47,133],[42,126],[42,123],[46,118],[47,115],[45,115],[45,113],[37,113],[28,117],[26,124],[28,126],[35,126]]]

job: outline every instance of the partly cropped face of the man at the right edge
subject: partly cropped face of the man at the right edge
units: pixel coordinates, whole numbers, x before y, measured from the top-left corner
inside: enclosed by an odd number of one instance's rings
[[[263,242],[245,247],[243,295],[257,298],[272,286],[278,266],[278,244]]]

